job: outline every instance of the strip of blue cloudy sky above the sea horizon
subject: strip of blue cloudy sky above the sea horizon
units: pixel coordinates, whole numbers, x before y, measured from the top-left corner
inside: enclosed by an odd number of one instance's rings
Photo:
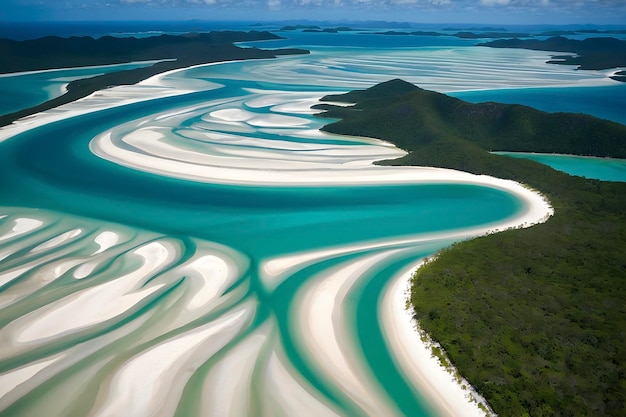
[[[626,0],[0,0],[0,22],[290,19],[626,25]]]

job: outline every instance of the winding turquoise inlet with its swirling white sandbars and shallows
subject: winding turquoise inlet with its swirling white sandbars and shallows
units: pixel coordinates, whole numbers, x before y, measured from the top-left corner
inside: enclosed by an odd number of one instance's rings
[[[598,75],[455,38],[292,38],[312,54],[176,72],[185,94],[0,143],[0,415],[438,415],[385,336],[389,285],[526,203],[373,167],[402,152],[309,107],[398,76],[514,95]]]

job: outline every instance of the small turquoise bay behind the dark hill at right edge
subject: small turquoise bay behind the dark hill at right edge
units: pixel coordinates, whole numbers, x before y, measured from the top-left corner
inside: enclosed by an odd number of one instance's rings
[[[525,152],[495,152],[513,158],[540,162],[559,171],[579,177],[603,181],[626,181],[626,161],[623,159],[593,158],[575,155],[552,155]]]

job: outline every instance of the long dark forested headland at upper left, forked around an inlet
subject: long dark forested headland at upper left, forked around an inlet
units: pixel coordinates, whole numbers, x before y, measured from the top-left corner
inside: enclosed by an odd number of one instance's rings
[[[135,84],[173,69],[210,62],[309,53],[304,49],[264,50],[234,45],[235,42],[272,39],[281,38],[270,32],[219,31],[147,38],[104,36],[94,39],[88,36],[71,38],[49,36],[27,41],[0,39],[0,73],[162,60],[149,67],[72,81],[67,87],[67,93],[58,98],[0,116],[0,126],[78,100],[103,88]]]

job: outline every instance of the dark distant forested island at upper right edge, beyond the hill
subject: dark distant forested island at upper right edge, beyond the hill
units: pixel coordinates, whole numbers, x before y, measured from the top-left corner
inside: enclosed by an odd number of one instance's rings
[[[568,39],[563,36],[555,36],[546,40],[501,39],[481,43],[478,46],[569,52],[576,55],[555,55],[548,63],[578,65],[578,69],[583,70],[603,70],[626,66],[626,41],[610,37],[584,40]],[[626,81],[623,74],[611,78],[616,81]]]

